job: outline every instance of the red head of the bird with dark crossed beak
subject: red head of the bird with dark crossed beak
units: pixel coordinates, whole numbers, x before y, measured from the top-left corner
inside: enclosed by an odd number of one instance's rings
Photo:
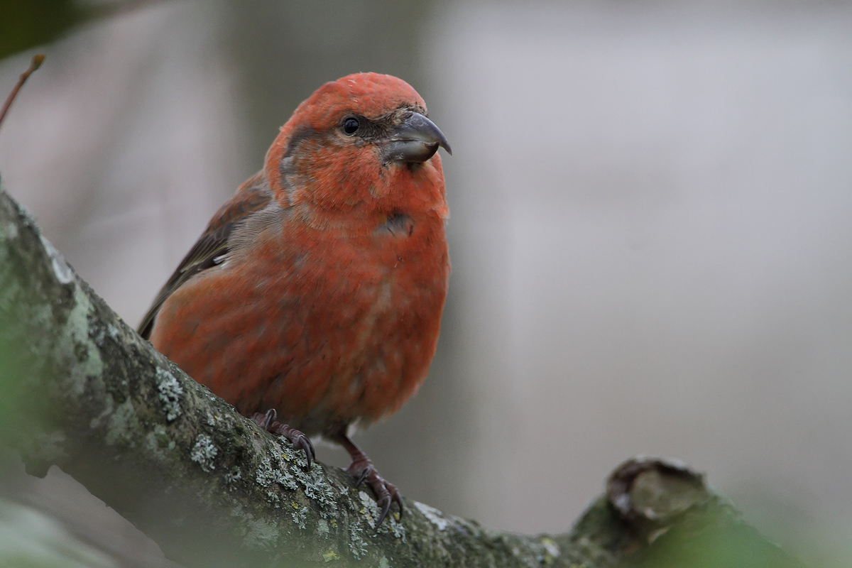
[[[439,147],[451,152],[411,85],[355,73],[296,108],[269,148],[266,175],[282,204],[317,215],[432,209],[446,217]]]

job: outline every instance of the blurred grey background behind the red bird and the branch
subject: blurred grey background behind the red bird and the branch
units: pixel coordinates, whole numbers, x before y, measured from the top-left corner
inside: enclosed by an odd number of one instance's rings
[[[852,4],[3,14],[0,95],[47,55],[3,123],[3,186],[131,324],[301,100],[394,74],[455,152],[453,273],[429,380],[356,439],[383,475],[485,525],[562,532],[619,462],[676,457],[800,554],[852,552]],[[18,483],[156,548],[59,471]]]

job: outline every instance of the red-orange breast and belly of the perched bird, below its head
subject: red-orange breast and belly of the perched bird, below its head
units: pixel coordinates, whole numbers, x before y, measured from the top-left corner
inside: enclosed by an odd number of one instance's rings
[[[308,435],[389,415],[429,370],[450,267],[438,215],[379,221],[266,233],[176,292],[158,348],[244,414],[274,408]]]

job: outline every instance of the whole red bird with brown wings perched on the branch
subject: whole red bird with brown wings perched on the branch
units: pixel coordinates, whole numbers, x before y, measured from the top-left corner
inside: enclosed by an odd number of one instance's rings
[[[382,509],[397,488],[351,439],[423,382],[450,261],[426,106],[396,77],[325,83],[293,112],[263,169],[213,215],[139,327],[189,376],[302,447],[349,452]],[[285,422],[273,422],[276,416]]]

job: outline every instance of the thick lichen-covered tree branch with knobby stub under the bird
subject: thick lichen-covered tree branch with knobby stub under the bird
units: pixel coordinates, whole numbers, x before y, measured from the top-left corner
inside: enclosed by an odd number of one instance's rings
[[[187,566],[797,566],[697,473],[617,469],[573,530],[492,531],[406,500],[262,432],[136,335],[0,189],[0,436],[57,465]],[[545,490],[546,491],[546,490]]]

